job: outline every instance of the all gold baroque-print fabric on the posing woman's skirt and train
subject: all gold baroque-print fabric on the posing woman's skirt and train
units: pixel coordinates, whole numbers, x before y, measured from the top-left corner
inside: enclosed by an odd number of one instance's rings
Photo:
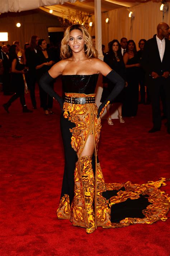
[[[85,95],[84,93],[65,93],[67,97],[95,97],[95,94]],[[109,101],[104,106],[109,104]],[[109,183],[104,182],[103,173],[100,164],[97,163],[98,142],[101,130],[100,118],[97,118],[98,109],[95,103],[91,104],[71,104],[64,102],[63,116],[75,124],[70,129],[72,133],[71,146],[76,151],[78,161],[74,173],[74,199],[71,207],[69,196],[61,198],[60,206],[57,210],[57,216],[61,219],[70,219],[73,225],[86,228],[87,233],[91,233],[101,226],[103,228],[126,227],[129,224],[145,223],[152,224],[161,219],[166,220],[166,213],[169,210],[170,198],[158,188],[165,186],[165,178],[157,182],[148,182],[147,184],[127,183]],[[95,142],[95,177],[91,164],[91,156],[81,156],[86,141],[90,134],[93,134]],[[125,188],[122,191],[121,188]],[[102,196],[104,191],[119,190],[117,196],[107,200]],[[142,213],[145,218],[125,218],[119,223],[111,223],[111,206],[126,201],[128,198],[137,199],[140,195],[148,195],[147,206]]]

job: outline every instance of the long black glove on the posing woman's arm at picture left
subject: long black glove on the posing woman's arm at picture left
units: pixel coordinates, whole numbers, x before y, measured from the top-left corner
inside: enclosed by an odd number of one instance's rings
[[[54,80],[54,78],[52,78],[50,76],[50,74],[48,73],[48,71],[43,74],[43,76],[40,78],[39,80],[39,85],[43,88],[43,90],[45,92],[47,92],[49,94],[49,96],[51,96],[52,98],[54,98],[55,100],[58,101],[58,103],[60,104],[60,108],[62,110],[63,108],[63,103],[64,100],[62,99],[62,97],[60,97],[49,85],[52,81]]]

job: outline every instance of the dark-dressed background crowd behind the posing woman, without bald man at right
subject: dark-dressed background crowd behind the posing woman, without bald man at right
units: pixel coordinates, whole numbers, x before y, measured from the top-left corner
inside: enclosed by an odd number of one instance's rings
[[[157,34],[156,34],[157,35]],[[154,37],[156,37],[154,35]],[[166,38],[170,40],[169,33]],[[95,36],[92,36],[95,46]],[[123,117],[134,117],[137,115],[138,104],[150,104],[151,97],[146,82],[146,70],[141,65],[143,49],[146,40],[141,39],[136,44],[133,40],[126,37],[112,40],[108,44],[109,51],[104,52],[105,46],[102,45],[104,61],[113,70],[115,70],[126,81],[126,87],[113,102],[107,106],[108,124],[113,125],[111,118],[111,105],[115,104],[118,110],[118,119],[124,123]],[[47,45],[44,39],[39,39],[33,35],[30,42],[26,42],[24,49],[21,49],[19,41],[14,41],[13,45],[3,45],[0,52],[0,82],[3,85],[4,95],[12,95],[8,102],[3,104],[4,109],[9,113],[9,107],[12,102],[20,98],[24,113],[31,113],[27,108],[24,94],[30,92],[30,98],[33,109],[37,109],[37,100],[35,96],[36,82],[39,85],[39,79],[48,71],[52,65],[60,60],[58,49]],[[51,83],[53,88],[54,84]],[[103,102],[112,91],[114,84],[103,77],[103,93],[101,102]],[[139,93],[140,91],[140,93]],[[139,97],[140,94],[140,97]],[[40,107],[43,108],[45,115],[53,114],[53,99],[47,95],[39,86]],[[162,101],[162,119],[167,117],[166,111],[166,92],[161,87]]]

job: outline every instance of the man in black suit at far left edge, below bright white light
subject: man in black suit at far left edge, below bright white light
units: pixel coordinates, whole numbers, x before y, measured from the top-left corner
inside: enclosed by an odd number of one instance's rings
[[[4,95],[11,95],[13,93],[10,92],[10,63],[8,56],[8,47],[6,45],[2,46],[2,51],[0,53],[0,59],[3,60],[3,92]]]

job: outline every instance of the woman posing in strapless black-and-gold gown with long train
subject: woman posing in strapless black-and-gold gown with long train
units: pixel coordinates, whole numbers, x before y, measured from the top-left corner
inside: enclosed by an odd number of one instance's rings
[[[62,60],[40,79],[42,88],[59,102],[62,109],[61,132],[65,150],[65,170],[57,216],[60,219],[69,219],[75,226],[86,228],[87,233],[92,233],[97,226],[111,228],[140,223],[141,219],[135,222],[133,218],[126,218],[128,217],[126,215],[124,222],[118,223],[118,220],[115,222],[117,216],[114,218],[113,207],[118,202],[126,201],[127,197],[141,200],[140,194],[145,195],[145,191],[148,192],[148,184],[137,187],[136,184],[130,185],[130,182],[126,184],[104,182],[97,156],[101,129],[100,116],[110,100],[121,92],[124,81],[106,63],[96,57],[97,52],[89,32],[82,25],[72,25],[66,29],[61,42]],[[99,73],[111,80],[115,87],[97,109],[94,91]],[[51,81],[59,75],[62,75],[64,102],[50,86]],[[149,189],[153,194],[154,184],[149,184]],[[153,198],[152,195],[152,200]],[[144,198],[144,207],[150,204],[146,201],[147,199]],[[124,219],[126,211],[122,210],[122,212]],[[152,211],[151,213],[153,214]],[[111,223],[110,216],[114,223]],[[158,219],[155,215],[154,217],[146,217],[142,220],[145,223],[152,223],[152,220]]]

